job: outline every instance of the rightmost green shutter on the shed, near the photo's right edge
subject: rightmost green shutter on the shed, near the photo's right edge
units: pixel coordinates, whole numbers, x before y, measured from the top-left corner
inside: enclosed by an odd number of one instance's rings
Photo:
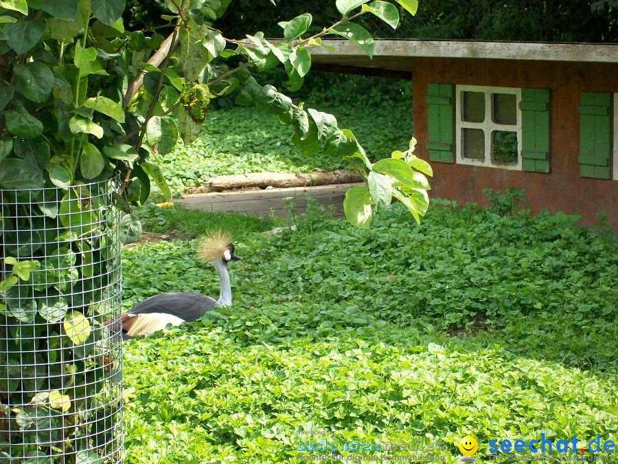
[[[587,93],[580,98],[580,174],[610,178],[611,94]]]

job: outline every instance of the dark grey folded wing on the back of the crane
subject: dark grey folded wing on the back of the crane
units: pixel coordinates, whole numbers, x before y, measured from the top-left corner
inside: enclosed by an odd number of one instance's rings
[[[201,318],[203,313],[216,307],[214,298],[188,291],[151,296],[135,305],[129,314],[168,313],[185,322]]]

